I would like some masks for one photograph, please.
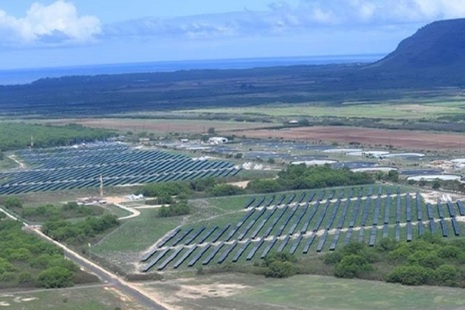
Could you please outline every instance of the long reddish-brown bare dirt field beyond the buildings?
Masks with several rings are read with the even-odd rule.
[[[285,140],[326,141],[372,146],[392,145],[411,150],[458,150],[465,147],[465,135],[432,133],[409,130],[387,130],[356,127],[317,126],[281,130],[244,130],[240,135],[248,138],[274,138]]]

